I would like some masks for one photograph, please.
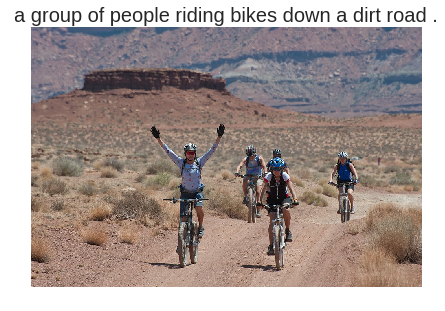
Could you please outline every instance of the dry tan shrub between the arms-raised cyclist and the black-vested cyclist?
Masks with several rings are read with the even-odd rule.
[[[242,198],[234,198],[233,193],[227,189],[208,191],[209,208],[227,215],[230,218],[247,219],[247,208],[241,204]]]

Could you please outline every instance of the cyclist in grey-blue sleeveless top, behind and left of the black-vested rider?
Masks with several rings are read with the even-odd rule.
[[[246,175],[257,175],[260,176],[263,174],[263,172],[266,172],[266,164],[262,156],[256,154],[256,149],[253,145],[249,145],[246,148],[246,157],[243,158],[236,168],[235,175],[238,176],[239,172],[241,171],[241,168],[243,166],[246,166]],[[247,204],[247,182],[249,181],[249,177],[245,176],[243,179],[243,192],[244,192],[244,199],[243,204]],[[256,201],[259,202],[260,197],[260,190],[261,185],[263,184],[263,181],[261,178],[254,178],[254,183],[256,185]],[[257,216],[261,216],[261,214],[258,212]]]

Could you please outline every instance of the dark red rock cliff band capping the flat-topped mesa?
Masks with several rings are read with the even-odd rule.
[[[225,91],[226,81],[222,78],[214,79],[208,73],[182,69],[98,70],[85,76],[83,90],[162,90],[164,86],[183,90],[208,88]]]

